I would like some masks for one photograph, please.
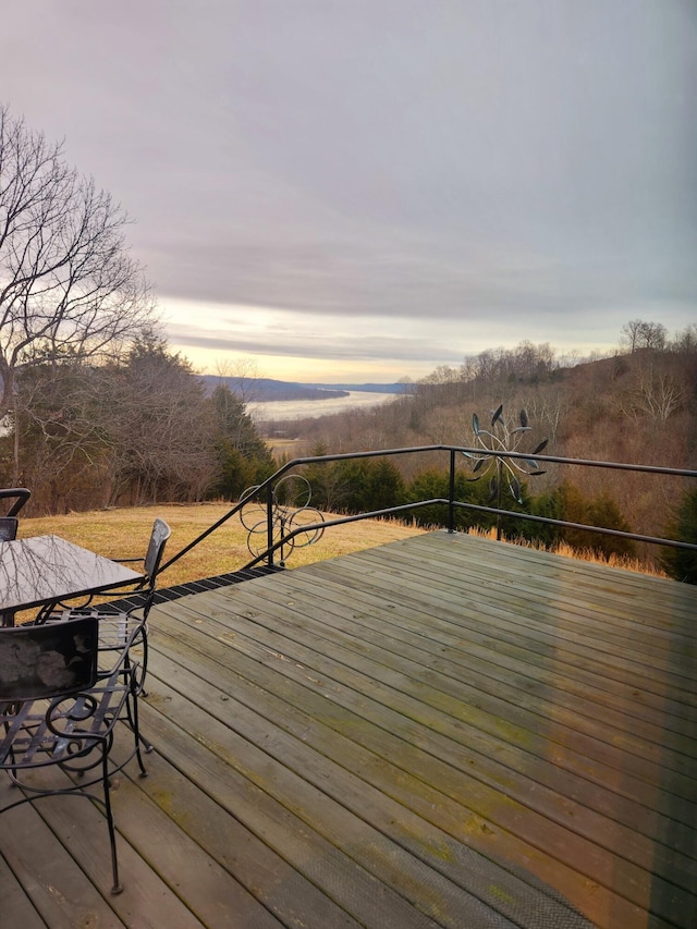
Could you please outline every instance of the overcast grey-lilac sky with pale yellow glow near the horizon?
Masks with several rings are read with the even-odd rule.
[[[694,0],[22,0],[0,102],[201,371],[418,379],[697,322]]]

